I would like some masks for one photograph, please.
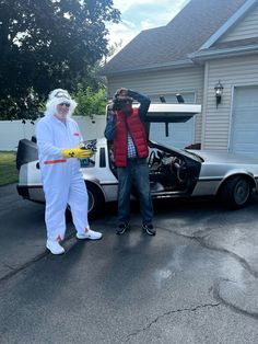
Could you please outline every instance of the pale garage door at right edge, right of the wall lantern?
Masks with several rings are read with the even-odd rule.
[[[235,88],[230,151],[258,158],[258,87]]]

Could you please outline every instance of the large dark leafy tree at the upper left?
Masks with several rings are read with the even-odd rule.
[[[0,0],[0,118],[35,118],[50,90],[91,82],[119,19],[113,0]]]

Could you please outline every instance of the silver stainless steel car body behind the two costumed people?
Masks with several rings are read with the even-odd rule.
[[[159,153],[160,157],[155,158],[154,163],[149,161],[151,192],[155,198],[215,196],[224,188],[227,181],[236,176],[244,179],[250,191],[258,190],[258,159],[221,151],[180,150],[156,142],[151,142],[150,147],[150,151],[154,154]],[[177,170],[173,170],[175,160],[179,161]],[[105,138],[96,140],[94,160],[87,160],[81,171],[89,188],[90,203],[95,205],[94,211],[103,203],[117,200],[118,180],[112,149]],[[45,200],[38,161],[21,167],[17,187],[25,198],[35,202]],[[244,187],[246,188],[246,185]],[[24,188],[26,193],[21,192]],[[243,193],[242,190],[241,192]],[[248,200],[250,192],[247,192],[245,196],[244,191],[243,204],[241,200],[235,205],[236,207],[244,206]],[[234,194],[228,195],[228,199],[233,196]],[[225,194],[224,198],[226,197]]]

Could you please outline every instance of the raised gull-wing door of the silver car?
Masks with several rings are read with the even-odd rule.
[[[168,123],[184,123],[199,113],[201,113],[201,105],[199,104],[151,103],[145,121],[148,123],[164,123],[166,136],[168,136]]]

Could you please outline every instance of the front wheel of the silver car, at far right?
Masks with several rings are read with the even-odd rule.
[[[244,176],[234,176],[222,185],[220,196],[227,208],[243,208],[251,196],[250,183]]]

